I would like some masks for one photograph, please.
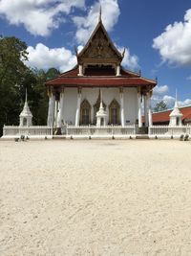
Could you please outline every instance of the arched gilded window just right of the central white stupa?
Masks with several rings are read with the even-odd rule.
[[[117,100],[113,100],[109,105],[109,124],[110,125],[120,125],[120,105]]]

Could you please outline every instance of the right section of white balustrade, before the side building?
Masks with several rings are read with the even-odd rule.
[[[180,126],[180,127],[170,127],[170,126],[152,126],[149,127],[149,135],[181,135],[189,134],[191,135],[191,126]]]

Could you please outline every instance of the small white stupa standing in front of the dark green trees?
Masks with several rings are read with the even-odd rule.
[[[25,96],[25,105],[23,106],[23,110],[19,115],[20,123],[19,127],[31,127],[32,126],[32,112],[27,102],[27,89]]]

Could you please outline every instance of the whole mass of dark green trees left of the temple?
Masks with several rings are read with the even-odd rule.
[[[16,37],[0,37],[0,136],[4,124],[18,125],[26,88],[33,125],[47,123],[48,97],[45,81],[60,73],[54,68],[47,72],[32,70],[25,64],[27,59],[25,42]]]

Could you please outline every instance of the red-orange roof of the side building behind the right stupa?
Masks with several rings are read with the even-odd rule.
[[[191,120],[191,105],[179,107],[180,112],[183,114],[181,120]],[[165,110],[157,113],[153,113],[153,124],[155,123],[163,123],[170,121],[170,113],[173,109]]]

